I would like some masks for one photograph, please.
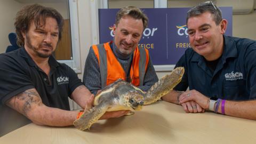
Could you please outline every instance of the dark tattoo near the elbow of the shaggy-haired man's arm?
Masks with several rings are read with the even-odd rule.
[[[8,102],[7,105],[27,116],[33,105],[42,105],[42,99],[35,89],[30,89],[15,95],[14,102]]]

